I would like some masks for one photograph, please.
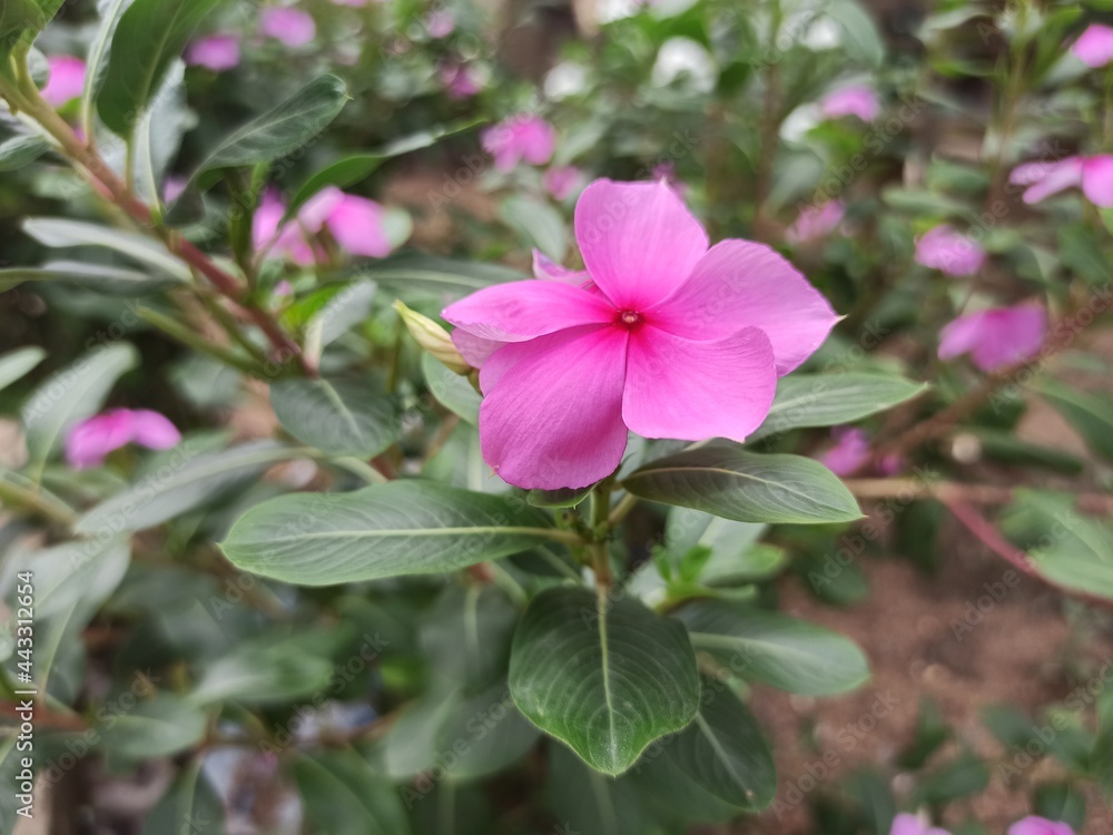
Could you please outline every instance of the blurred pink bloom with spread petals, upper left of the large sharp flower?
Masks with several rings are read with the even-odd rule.
[[[279,226],[285,214],[286,204],[282,198],[274,191],[266,191],[252,224],[256,252],[270,252],[307,266],[322,255],[312,238],[326,228],[341,248],[352,255],[382,258],[393,248],[386,234],[383,207],[335,187],[318,191],[293,219]]]

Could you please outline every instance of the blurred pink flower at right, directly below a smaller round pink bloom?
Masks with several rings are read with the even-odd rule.
[[[1047,314],[1034,305],[968,313],[939,333],[939,358],[969,354],[982,371],[997,371],[1035,356],[1046,333]]]

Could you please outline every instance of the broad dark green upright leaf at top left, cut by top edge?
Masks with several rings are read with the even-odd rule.
[[[108,70],[97,97],[105,125],[128,137],[158,90],[170,62],[223,0],[135,0],[112,37]]]

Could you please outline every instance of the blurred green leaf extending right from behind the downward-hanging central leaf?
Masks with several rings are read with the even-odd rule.
[[[725,600],[699,600],[678,616],[697,650],[746,679],[827,696],[869,677],[866,657],[854,641],[806,620]]]

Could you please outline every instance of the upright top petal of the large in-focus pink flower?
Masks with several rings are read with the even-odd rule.
[[[663,301],[707,252],[707,233],[661,183],[599,179],[575,204],[575,239],[592,281],[620,310]]]

